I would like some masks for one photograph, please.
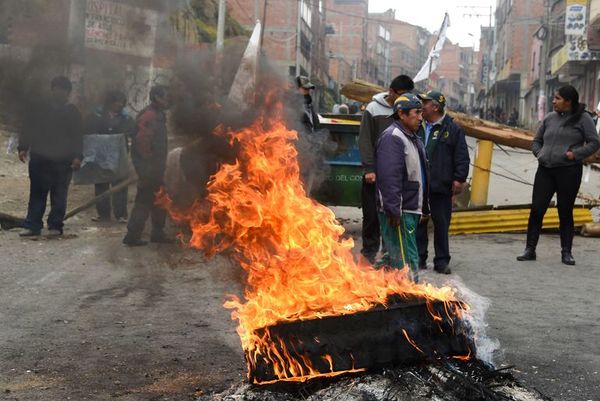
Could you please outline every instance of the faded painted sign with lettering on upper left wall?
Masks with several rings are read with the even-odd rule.
[[[138,57],[154,55],[158,13],[109,0],[88,0],[85,46]]]

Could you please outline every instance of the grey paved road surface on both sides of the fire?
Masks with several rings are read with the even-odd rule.
[[[532,180],[528,155],[496,150],[494,161]],[[2,162],[3,172],[24,171]],[[599,176],[585,192],[600,195]],[[24,175],[0,184],[5,211],[24,210]],[[526,203],[530,191],[493,176],[490,201]],[[360,211],[335,211],[360,249]],[[177,247],[124,248],[122,226],[90,227],[91,216],[70,220],[62,240],[0,231],[0,399],[191,400],[242,381],[235,323],[222,307],[225,294],[241,292],[239,269]],[[450,279],[489,300],[497,363],[555,400],[600,401],[600,239],[576,237],[575,267],[560,263],[556,235],[542,237],[529,263],[514,261],[522,234],[451,241]]]

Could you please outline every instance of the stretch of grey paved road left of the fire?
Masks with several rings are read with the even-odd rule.
[[[122,226],[69,228],[0,231],[0,399],[185,400],[242,380],[228,263],[125,248]]]

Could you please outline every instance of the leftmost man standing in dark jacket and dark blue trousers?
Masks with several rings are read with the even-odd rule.
[[[81,114],[68,102],[71,81],[56,77],[50,89],[50,100],[33,108],[19,137],[19,160],[25,163],[29,158],[30,181],[26,230],[20,234],[22,237],[40,235],[48,193],[48,234],[62,235],[71,176],[81,165]]]

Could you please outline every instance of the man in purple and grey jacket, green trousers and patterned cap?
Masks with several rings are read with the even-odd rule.
[[[427,205],[427,157],[417,132],[423,120],[422,103],[412,93],[397,97],[394,122],[378,140],[375,150],[377,205],[386,245],[384,265],[409,266],[418,281],[416,230]]]

